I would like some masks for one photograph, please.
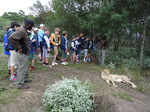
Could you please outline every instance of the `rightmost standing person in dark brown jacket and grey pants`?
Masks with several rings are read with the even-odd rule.
[[[108,41],[106,39],[106,36],[102,36],[97,43],[98,49],[99,49],[99,64],[104,65],[105,63],[105,53],[106,49],[108,48]]]

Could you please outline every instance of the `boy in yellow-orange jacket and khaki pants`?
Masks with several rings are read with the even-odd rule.
[[[59,28],[55,28],[55,33],[51,34],[50,37],[50,43],[53,44],[54,46],[54,57],[53,57],[53,61],[52,61],[52,66],[58,65],[58,63],[56,63],[56,57],[58,56],[58,46],[60,44],[60,29]]]

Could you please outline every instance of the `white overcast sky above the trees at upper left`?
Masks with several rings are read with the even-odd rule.
[[[0,2],[0,16],[4,12],[19,12],[23,10],[26,14],[30,14],[29,7],[37,0],[1,0]],[[46,4],[48,0],[40,0],[42,4]]]

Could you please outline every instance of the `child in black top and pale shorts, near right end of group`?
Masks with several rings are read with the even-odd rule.
[[[84,40],[84,59],[83,62],[87,62],[88,59],[88,49],[89,49],[89,38]]]

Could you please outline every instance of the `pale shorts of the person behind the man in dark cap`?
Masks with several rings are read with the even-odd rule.
[[[17,52],[15,50],[10,50],[10,66],[16,66],[17,63]]]

